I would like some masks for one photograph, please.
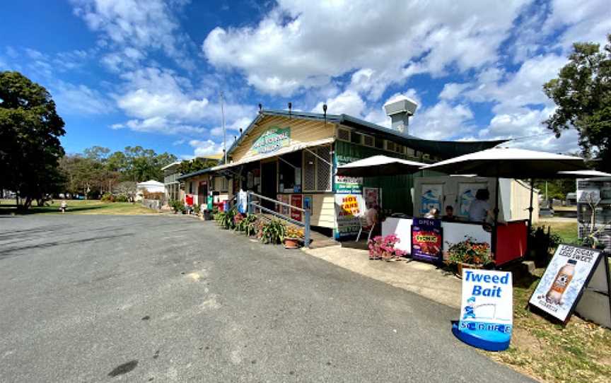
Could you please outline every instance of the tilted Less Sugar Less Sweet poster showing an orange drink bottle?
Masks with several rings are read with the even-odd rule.
[[[528,303],[566,323],[598,265],[601,252],[560,244]]]

